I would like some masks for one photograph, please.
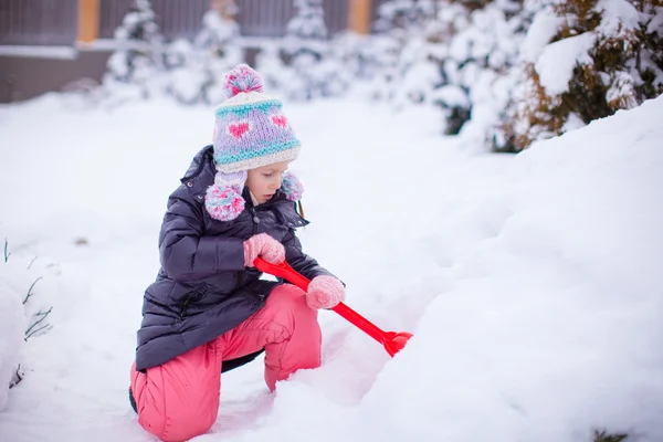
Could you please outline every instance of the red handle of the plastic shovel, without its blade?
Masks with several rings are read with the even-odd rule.
[[[253,262],[255,269],[261,272],[269,273],[274,276],[283,277],[290,281],[292,284],[302,288],[304,292],[308,290],[308,284],[311,281],[297,273],[293,267],[291,267],[286,262],[282,262],[281,264],[271,264],[263,260],[262,257],[256,257]],[[366,333],[368,336],[377,340],[378,343],[386,345],[388,337],[387,334],[380,329],[377,325],[372,324],[370,320],[345,305],[344,303],[338,303],[335,307],[332,308],[334,312],[343,316],[350,324],[358,327],[360,330]]]

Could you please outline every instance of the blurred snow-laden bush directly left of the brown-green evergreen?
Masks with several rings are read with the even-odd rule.
[[[466,15],[454,13],[453,7],[456,11],[462,7]],[[504,118],[523,76],[520,48],[538,9],[537,0],[495,0],[454,2],[440,11],[439,20],[453,30],[443,66],[445,84],[464,91],[469,106],[451,108],[465,110],[460,115],[448,110],[445,131],[454,134],[457,128],[466,148],[503,148]]]

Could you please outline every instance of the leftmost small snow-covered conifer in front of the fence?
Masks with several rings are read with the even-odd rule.
[[[149,0],[136,0],[114,34],[116,50],[103,78],[110,103],[145,99],[164,84],[164,36]]]

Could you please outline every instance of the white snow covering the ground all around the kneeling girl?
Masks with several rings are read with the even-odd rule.
[[[275,394],[260,360],[224,375],[197,440],[663,440],[663,98],[517,157],[460,151],[435,113],[285,110],[304,141],[305,250],[348,305],[414,337],[390,359],[323,313],[323,367]],[[154,440],[127,400],[135,332],[167,196],[211,131],[210,109],[165,103],[0,108],[0,333],[36,276],[20,263],[38,256],[31,302],[53,306],[0,441]]]

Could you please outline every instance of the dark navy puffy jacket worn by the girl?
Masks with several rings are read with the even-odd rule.
[[[253,207],[244,188],[245,210],[232,221],[218,221],[204,208],[214,181],[212,146],[191,162],[182,185],[170,194],[159,233],[161,269],[146,290],[138,330],[136,369],[161,365],[206,344],[264,306],[277,282],[244,267],[243,241],[267,233],[285,246],[287,263],[309,280],[325,269],[302,252],[295,229],[306,225],[295,203],[278,191]]]

